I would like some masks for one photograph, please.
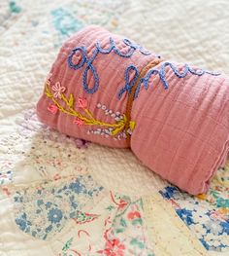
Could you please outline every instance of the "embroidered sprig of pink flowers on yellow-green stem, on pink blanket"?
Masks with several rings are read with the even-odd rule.
[[[54,91],[54,93],[51,90]],[[81,108],[87,116],[82,115],[81,113],[79,113],[74,109],[75,98],[73,94],[71,93],[69,98],[67,98],[63,93],[66,89],[64,87],[61,87],[59,82],[55,83],[55,85],[51,87],[51,90],[50,90],[50,82],[48,79],[48,82],[46,83],[45,93],[53,102],[53,104],[50,104],[48,107],[48,110],[52,114],[56,114],[56,112],[59,110],[67,115],[74,116],[75,119],[73,123],[77,124],[78,126],[86,125],[86,126],[101,126],[101,127],[107,127],[107,128],[114,128],[111,132],[112,135],[116,135],[118,132],[122,131],[126,127],[126,124],[128,121],[125,114],[123,114],[122,118],[119,121],[116,121],[115,124],[104,123],[102,121],[94,119],[93,115],[87,109],[87,100],[85,98],[79,97],[77,106]],[[63,106],[57,100],[57,98],[59,100],[62,100],[67,106],[67,108]],[[133,130],[135,128],[135,122],[130,121],[129,128]]]

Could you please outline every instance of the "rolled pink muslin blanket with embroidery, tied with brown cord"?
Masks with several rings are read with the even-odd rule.
[[[98,26],[63,44],[37,114],[62,133],[130,147],[193,195],[207,192],[229,150],[228,76],[163,60]]]

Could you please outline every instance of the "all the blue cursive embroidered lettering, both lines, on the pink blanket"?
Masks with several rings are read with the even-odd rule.
[[[102,55],[109,55],[111,52],[114,52],[116,55],[119,55],[121,57],[130,57],[134,54],[134,52],[136,50],[139,50],[139,52],[143,55],[151,55],[143,47],[131,42],[129,39],[126,39],[126,38],[123,39],[123,43],[129,47],[126,54],[122,54],[116,48],[115,41],[112,37],[110,37],[110,47],[108,49],[101,48],[101,45],[97,42],[95,44],[95,50],[90,58],[88,58],[88,56],[86,55],[86,49],[83,46],[72,50],[71,54],[68,56],[68,65],[70,68],[78,70],[78,69],[82,68],[82,66],[86,63],[86,67],[82,74],[82,86],[83,86],[84,91],[86,91],[87,93],[93,94],[99,88],[99,76],[98,76],[98,73],[97,73],[95,67],[93,66],[93,61],[99,53]],[[80,60],[80,63],[74,64],[73,56],[77,52],[80,52],[82,59]],[[157,55],[157,57],[160,58],[160,55]],[[166,80],[166,67],[167,66],[170,67],[172,69],[172,71],[174,72],[174,74],[179,78],[184,78],[188,73],[190,73],[192,75],[196,75],[196,76],[202,76],[204,74],[211,74],[213,76],[220,75],[219,73],[213,73],[213,72],[203,70],[203,69],[194,70],[188,64],[184,64],[183,70],[179,71],[178,68],[173,63],[166,61],[161,65],[160,69],[151,68],[147,71],[146,76],[140,79],[139,84],[138,84],[135,94],[134,94],[134,99],[136,99],[138,97],[142,84],[144,85],[144,88],[146,90],[148,89],[148,80],[151,77],[151,75],[153,75],[153,74],[159,76],[164,89],[167,90],[169,88],[169,85]],[[91,89],[89,89],[88,84],[87,84],[88,71],[91,71],[92,76],[94,78],[94,85]],[[133,71],[135,72],[135,74],[134,74],[134,77],[130,81],[130,73]],[[138,68],[133,64],[129,65],[126,68],[125,74],[124,74],[125,85],[117,93],[117,97],[119,99],[121,98],[122,94],[125,91],[127,91],[127,94],[130,94],[133,86],[135,85],[137,79],[139,78],[139,74],[140,74],[140,72],[139,72]]]

